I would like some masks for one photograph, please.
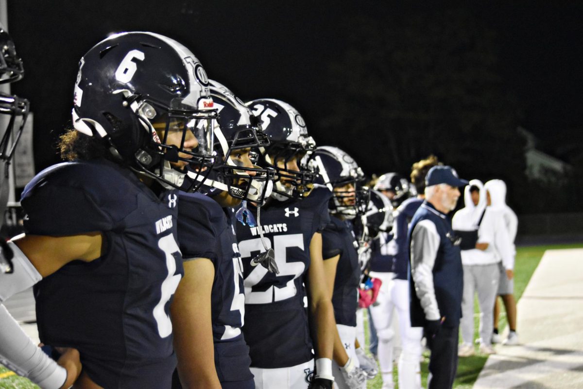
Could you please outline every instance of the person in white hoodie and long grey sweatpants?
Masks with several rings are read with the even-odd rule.
[[[462,345],[458,355],[470,356],[473,348],[473,302],[477,292],[480,305],[480,353],[494,353],[491,347],[493,334],[494,301],[498,292],[500,267],[498,262],[512,260],[512,250],[502,215],[486,208],[486,191],[479,180],[471,180],[464,193],[465,208],[455,213],[452,227],[458,231],[477,230],[474,248],[462,250],[463,297],[462,297]]]

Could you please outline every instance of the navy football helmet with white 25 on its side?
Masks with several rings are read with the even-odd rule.
[[[280,100],[257,99],[249,101],[247,106],[261,120],[271,143],[262,150],[259,164],[275,169],[278,176],[272,197],[279,201],[306,197],[317,169],[309,159],[316,143],[308,135],[304,119],[296,108]],[[295,162],[298,170],[289,169],[290,162]]]

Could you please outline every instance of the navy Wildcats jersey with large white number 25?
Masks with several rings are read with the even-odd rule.
[[[304,276],[310,267],[310,242],[329,223],[331,192],[316,187],[303,200],[271,201],[261,207],[265,244],[275,251],[279,274],[250,260],[265,251],[259,227],[236,223],[245,278],[245,325],[251,366],[290,367],[313,358],[304,308]],[[257,220],[257,208],[250,205]]]

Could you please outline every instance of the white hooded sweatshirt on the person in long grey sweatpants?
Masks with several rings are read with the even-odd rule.
[[[470,187],[476,186],[480,191],[480,199],[477,206],[473,204]],[[512,255],[512,248],[508,233],[504,226],[503,216],[500,211],[486,208],[486,190],[480,180],[471,180],[466,185],[463,195],[465,200],[465,208],[460,209],[455,213],[452,219],[452,227],[454,230],[469,231],[477,228],[477,223],[484,213],[482,223],[478,229],[477,243],[487,243],[486,250],[479,250],[473,248],[472,250],[462,250],[462,264],[463,265],[490,265],[503,261],[504,267],[510,269],[514,265],[514,257]]]

